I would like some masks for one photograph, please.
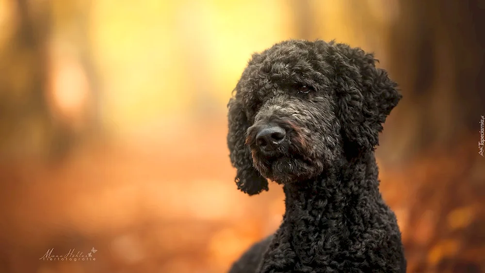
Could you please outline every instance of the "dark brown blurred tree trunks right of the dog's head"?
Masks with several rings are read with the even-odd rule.
[[[470,134],[478,143],[485,114],[484,9],[479,0],[400,1],[389,70],[404,98],[386,130],[396,157],[447,149]]]

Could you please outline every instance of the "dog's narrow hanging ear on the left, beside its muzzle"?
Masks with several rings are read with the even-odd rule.
[[[245,145],[246,130],[249,123],[241,102],[233,97],[227,105],[229,109],[229,132],[227,146],[229,147],[232,166],[237,169],[236,184],[238,189],[249,195],[258,194],[268,190],[268,180],[253,166],[250,148]]]

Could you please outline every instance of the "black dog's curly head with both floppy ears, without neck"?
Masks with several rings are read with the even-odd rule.
[[[228,104],[238,187],[260,193],[267,179],[309,179],[374,149],[401,98],[374,62],[360,48],[323,41],[290,40],[253,54]]]

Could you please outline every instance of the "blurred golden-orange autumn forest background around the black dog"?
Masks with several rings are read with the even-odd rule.
[[[377,149],[408,272],[485,272],[485,3],[0,0],[0,272],[223,273],[284,212],[236,189],[226,104],[289,38],[400,84]],[[70,249],[96,261],[45,261]],[[97,250],[94,252],[94,250]]]

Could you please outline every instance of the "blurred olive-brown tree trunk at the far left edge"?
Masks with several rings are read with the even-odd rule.
[[[46,155],[62,135],[45,97],[50,15],[47,8],[33,11],[28,1],[16,0],[15,18],[16,32],[0,56],[0,150],[8,157]]]

